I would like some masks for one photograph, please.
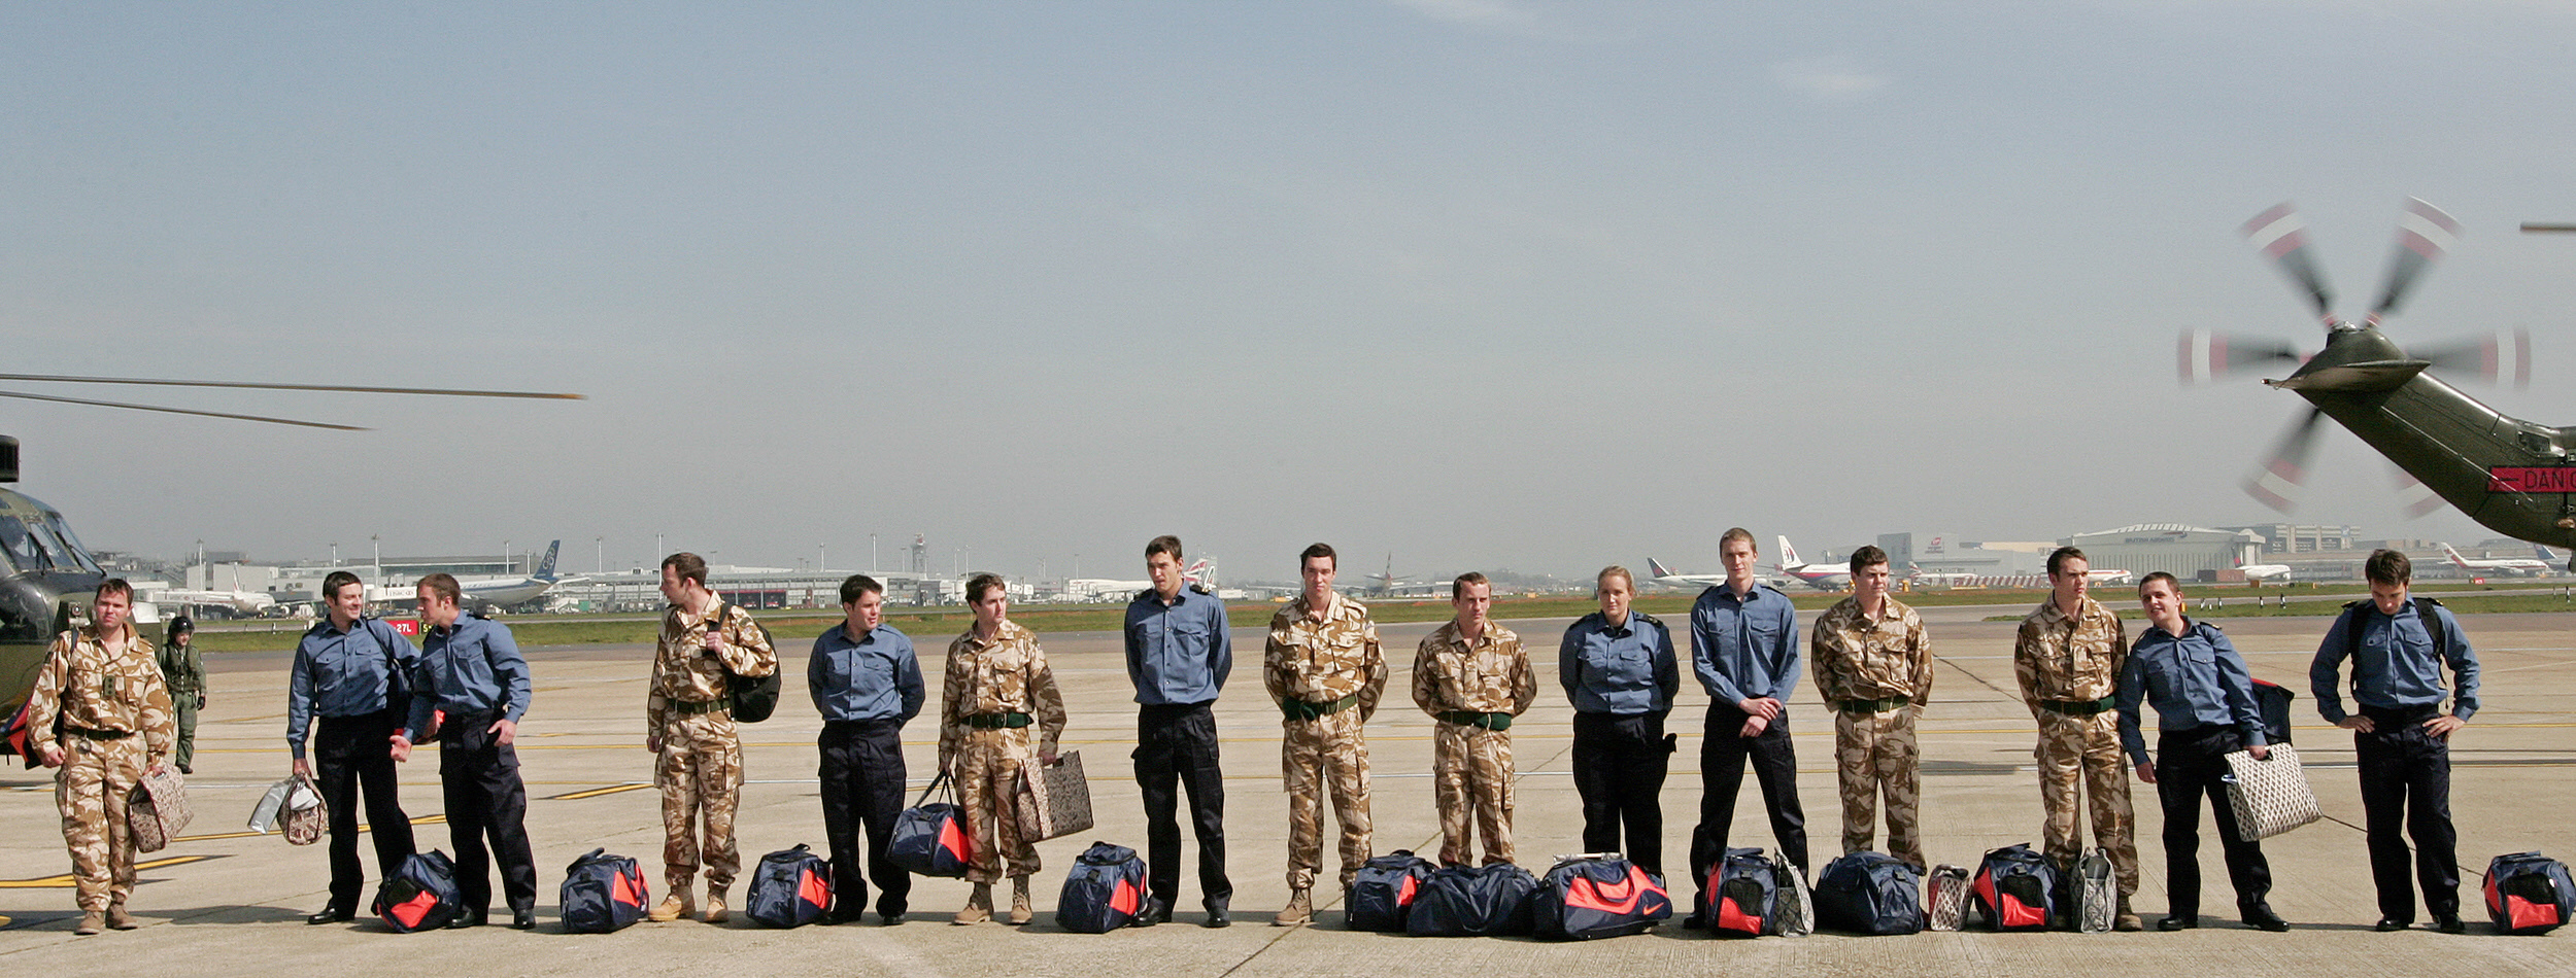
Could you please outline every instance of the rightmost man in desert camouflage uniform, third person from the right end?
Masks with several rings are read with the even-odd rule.
[[[2115,929],[2146,929],[2128,909],[2138,893],[2136,816],[2128,806],[2128,759],[2120,757],[2120,667],[2128,664],[2128,628],[2120,615],[2087,597],[2092,561],[2061,546],[2048,553],[2048,602],[2022,618],[2012,641],[2012,674],[2040,721],[2040,806],[2048,811],[2043,844],[2058,872],[2074,872],[2084,834],[2076,793],[2092,800],[2094,842],[2110,852],[2120,878]]]

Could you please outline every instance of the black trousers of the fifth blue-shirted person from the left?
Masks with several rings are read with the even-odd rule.
[[[1664,713],[1574,713],[1574,793],[1584,800],[1584,852],[1625,852],[1664,875]],[[1620,829],[1628,844],[1620,847]]]

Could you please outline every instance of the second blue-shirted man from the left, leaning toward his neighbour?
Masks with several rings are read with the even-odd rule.
[[[528,782],[518,775],[518,721],[533,687],[510,628],[466,618],[456,577],[430,574],[420,597],[420,679],[412,718],[394,733],[394,759],[438,741],[438,782],[456,847],[464,914],[448,927],[482,927],[492,914],[492,862],[510,901],[510,927],[536,927],[536,857],[528,849]],[[489,836],[489,847],[484,839]]]

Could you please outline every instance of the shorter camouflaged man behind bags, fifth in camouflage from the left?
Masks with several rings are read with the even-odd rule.
[[[1492,620],[1494,584],[1468,571],[1450,582],[1445,625],[1414,649],[1414,705],[1432,726],[1432,800],[1440,806],[1440,862],[1468,865],[1484,836],[1484,862],[1512,862],[1512,718],[1538,700],[1538,674],[1520,636]]]

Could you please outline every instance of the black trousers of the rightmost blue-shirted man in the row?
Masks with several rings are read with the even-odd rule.
[[[2362,767],[2362,821],[2370,839],[2370,880],[2380,890],[2380,916],[2414,921],[2414,885],[2406,880],[2406,839],[2414,836],[2414,878],[2424,909],[2460,914],[2460,834],[2450,826],[2450,741],[2424,733],[2424,710],[2362,708],[2375,731],[2352,731]]]

